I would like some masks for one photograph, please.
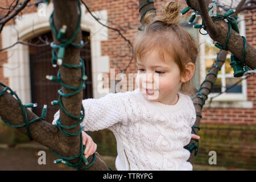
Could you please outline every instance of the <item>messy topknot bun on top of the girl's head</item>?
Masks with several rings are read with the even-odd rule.
[[[162,9],[163,15],[158,19],[166,24],[178,24],[180,21],[180,4],[179,0],[168,1]]]

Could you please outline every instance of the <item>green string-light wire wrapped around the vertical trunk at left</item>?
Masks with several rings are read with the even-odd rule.
[[[56,64],[57,64],[57,65],[62,65],[64,67],[67,67],[67,68],[70,68],[70,69],[81,69],[81,72],[82,72],[81,85],[80,86],[70,86],[70,85],[65,84],[61,80],[60,70],[57,73],[57,77],[55,77],[55,76],[47,76],[47,78],[48,78],[48,80],[59,82],[64,88],[74,90],[73,92],[66,94],[66,93],[63,93],[62,89],[59,89],[58,90],[59,100],[58,101],[52,101],[52,104],[53,105],[59,105],[60,109],[63,110],[63,112],[66,115],[68,115],[68,117],[71,117],[73,119],[79,120],[75,125],[66,126],[66,125],[63,125],[60,122],[60,118],[58,118],[57,121],[56,121],[56,126],[59,127],[61,133],[63,133],[64,135],[66,135],[68,137],[80,135],[80,148],[81,148],[80,154],[78,154],[76,156],[69,156],[69,157],[59,155],[59,154],[57,154],[57,152],[51,150],[51,148],[50,148],[50,150],[55,155],[57,155],[57,156],[59,156],[61,158],[61,159],[55,160],[55,163],[63,163],[65,165],[69,166],[69,167],[75,168],[77,170],[81,170],[81,169],[85,169],[85,168],[88,168],[88,167],[92,166],[92,164],[96,160],[96,154],[95,153],[93,154],[93,160],[89,164],[88,163],[88,159],[90,157],[88,159],[85,158],[84,151],[85,151],[86,146],[82,144],[82,133],[81,132],[82,132],[83,127],[80,127],[80,130],[77,133],[69,133],[68,131],[65,131],[64,129],[73,129],[74,127],[80,125],[80,123],[83,121],[84,116],[85,116],[84,107],[82,106],[82,108],[81,108],[82,109],[82,114],[80,114],[79,116],[76,116],[76,115],[73,115],[71,113],[68,113],[68,111],[65,110],[65,108],[64,108],[64,106],[62,104],[62,101],[61,101],[62,97],[71,97],[71,96],[74,96],[75,94],[81,92],[85,88],[85,80],[87,79],[87,76],[85,75],[84,61],[81,59],[81,57],[80,57],[80,64],[79,65],[71,65],[71,64],[63,63],[63,61],[62,61],[63,58],[64,58],[65,48],[67,46],[69,46],[69,45],[71,45],[73,47],[83,47],[84,46],[84,42],[82,42],[82,41],[81,41],[80,44],[73,43],[73,40],[75,40],[75,38],[76,38],[76,36],[77,36],[77,34],[78,34],[79,30],[80,30],[80,23],[81,23],[80,1],[78,1],[78,5],[79,5],[79,20],[78,20],[78,23],[77,23],[76,30],[72,34],[70,39],[66,40],[66,39],[63,38],[63,35],[65,34],[65,32],[67,30],[67,26],[65,26],[65,25],[59,30],[59,32],[57,34],[57,31],[55,29],[54,22],[53,22],[53,11],[52,11],[52,14],[50,16],[49,22],[50,22],[50,26],[51,26],[51,30],[53,32],[53,35],[61,43],[60,45],[51,43],[51,47],[52,47],[52,65],[53,65],[53,67],[56,67]],[[55,53],[56,49],[59,49],[57,55]],[[67,160],[73,160],[73,159],[76,159],[76,158],[79,158],[79,162],[76,163],[76,164],[72,164],[72,163],[69,163],[67,161]],[[82,163],[85,163],[86,166],[81,167]]]

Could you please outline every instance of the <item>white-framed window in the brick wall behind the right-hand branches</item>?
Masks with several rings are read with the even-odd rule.
[[[245,21],[243,15],[239,15],[241,22],[238,24],[240,28],[240,35],[245,36]],[[201,20],[199,20],[201,22]],[[201,31],[203,34],[206,32]],[[200,83],[205,80],[207,71],[211,68],[213,62],[216,60],[217,53],[220,51],[217,47],[214,46],[213,40],[209,35],[199,36],[200,45]],[[224,65],[222,65],[221,70],[218,72],[218,77],[216,82],[212,87],[212,91],[209,94],[208,98],[213,98],[213,101],[246,101],[247,100],[247,89],[246,89],[246,80],[241,80],[239,77],[236,78],[233,76],[233,68],[230,66],[230,52],[226,56]],[[240,82],[239,82],[240,81]],[[236,86],[228,89],[230,86],[239,82]],[[226,92],[225,90],[228,89]],[[220,96],[217,96],[220,92]],[[217,96],[217,97],[216,97]]]

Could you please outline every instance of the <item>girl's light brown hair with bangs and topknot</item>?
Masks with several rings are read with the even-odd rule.
[[[185,64],[196,63],[197,46],[192,36],[179,23],[180,5],[178,0],[168,1],[162,9],[162,15],[148,11],[144,16],[146,26],[134,40],[134,59],[137,62],[152,49],[158,49],[164,62],[164,53],[172,56],[179,66],[181,75],[185,76]],[[181,85],[180,92],[195,94],[192,79]]]

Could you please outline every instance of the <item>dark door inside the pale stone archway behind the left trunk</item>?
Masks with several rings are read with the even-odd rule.
[[[44,40],[52,42],[51,32],[40,35]],[[84,41],[84,47],[81,48],[81,58],[85,64],[85,75],[88,79],[85,81],[86,88],[84,89],[85,98],[93,98],[93,85],[92,85],[92,59],[90,53],[90,33],[82,31],[82,40]],[[31,39],[31,43],[39,41],[39,36]],[[48,46],[35,47],[29,46],[30,55],[30,84],[31,84],[31,102],[37,103],[37,107],[33,107],[32,111],[40,116],[43,106],[47,105],[46,121],[52,122],[53,115],[59,110],[59,106],[51,105],[51,101],[59,98],[57,90],[61,88],[61,85],[49,81],[46,79],[46,75],[57,76],[59,67],[53,68],[51,64],[52,48]]]

